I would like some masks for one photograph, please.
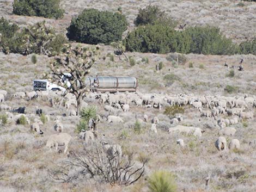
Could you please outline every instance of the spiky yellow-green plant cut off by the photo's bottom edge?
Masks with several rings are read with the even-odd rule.
[[[175,192],[175,177],[168,171],[156,171],[148,179],[150,192]]]

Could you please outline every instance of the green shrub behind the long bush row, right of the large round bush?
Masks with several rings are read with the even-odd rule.
[[[148,5],[144,9],[139,9],[139,13],[134,21],[135,26],[145,26],[147,24],[166,24],[170,27],[175,27],[176,22],[167,17],[164,11],[161,11],[159,7],[154,5]]]

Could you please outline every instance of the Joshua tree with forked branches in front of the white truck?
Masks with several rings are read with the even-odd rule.
[[[50,63],[53,82],[63,85],[63,73],[70,73],[70,87],[66,87],[68,92],[76,96],[77,115],[80,112],[82,104],[82,96],[88,91],[85,84],[86,75],[90,72],[90,68],[99,58],[99,47],[80,47],[75,48],[65,45],[63,53],[58,54]]]

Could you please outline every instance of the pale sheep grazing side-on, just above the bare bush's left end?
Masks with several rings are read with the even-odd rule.
[[[58,151],[59,146],[65,146],[64,153],[68,151],[69,143],[72,137],[68,133],[58,133],[50,135],[46,142],[47,148],[55,147],[56,151]]]

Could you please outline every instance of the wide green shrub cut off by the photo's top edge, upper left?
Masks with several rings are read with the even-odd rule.
[[[59,7],[60,0],[14,0],[13,13],[16,15],[61,18],[64,10]]]

